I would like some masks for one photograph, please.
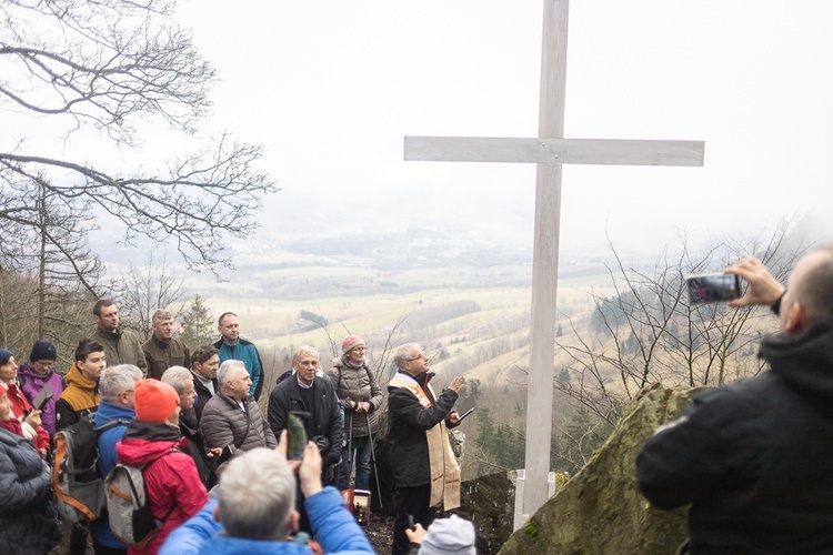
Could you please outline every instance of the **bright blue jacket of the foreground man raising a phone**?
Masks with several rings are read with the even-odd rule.
[[[159,555],[198,555],[205,553],[312,553],[305,545],[293,542],[268,542],[243,539],[222,535],[222,526],[214,521],[217,500],[211,500],[165,541]],[[374,553],[368,537],[344,507],[344,501],[334,487],[324,487],[304,501],[312,529],[324,553],[333,555],[359,555]]]

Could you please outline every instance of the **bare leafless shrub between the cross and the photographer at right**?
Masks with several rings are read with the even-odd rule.
[[[756,345],[774,320],[753,307],[693,304],[683,279],[719,271],[749,253],[783,280],[804,251],[801,242],[784,248],[787,231],[784,222],[752,239],[715,241],[697,255],[689,252],[683,238],[678,255],[663,252],[649,272],[628,268],[611,243],[614,294],[593,294],[591,333],[563,315],[573,334],[556,344],[570,357],[570,380],[555,380],[554,387],[615,424],[626,402],[652,383],[722,385],[760,372]]]

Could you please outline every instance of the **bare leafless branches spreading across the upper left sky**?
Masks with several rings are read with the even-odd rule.
[[[0,3],[0,108],[53,120],[68,144],[103,132],[114,155],[141,144],[140,122],[195,134],[214,72],[174,8],[173,0]],[[172,241],[193,270],[230,264],[225,238],[250,232],[261,198],[277,190],[254,167],[261,149],[228,134],[165,163],[119,170],[107,168],[106,151],[97,164],[52,149],[31,152],[22,134],[0,139],[0,222],[37,221],[31,201],[44,191],[120,220],[128,243],[137,234]]]

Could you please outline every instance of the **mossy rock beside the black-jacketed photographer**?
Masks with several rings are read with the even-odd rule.
[[[501,548],[501,554],[674,553],[685,508],[652,508],[636,488],[636,454],[653,431],[704,389],[655,384],[625,408],[602,448]]]

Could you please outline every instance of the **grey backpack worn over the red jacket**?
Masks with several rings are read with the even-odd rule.
[[[119,463],[104,478],[110,532],[122,543],[137,549],[143,549],[153,539],[177,508],[174,504],[161,521],[153,518],[151,514],[142,472],[157,461],[159,458],[142,466]]]

